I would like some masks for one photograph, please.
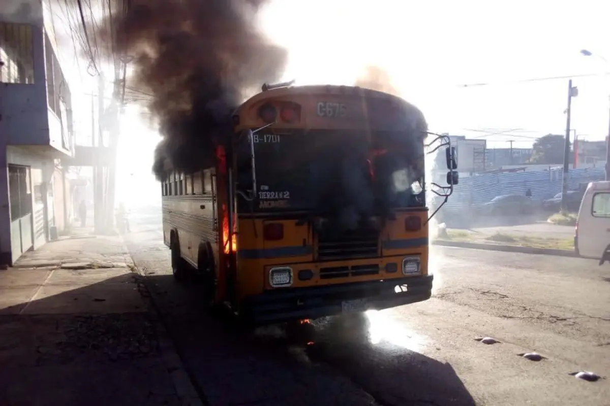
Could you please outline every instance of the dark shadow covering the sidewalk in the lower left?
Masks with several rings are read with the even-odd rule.
[[[101,270],[73,272],[87,271]],[[53,294],[59,285],[0,309],[0,404],[180,404],[132,273]]]

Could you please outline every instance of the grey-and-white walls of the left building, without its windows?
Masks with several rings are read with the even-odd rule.
[[[51,21],[57,10],[51,10],[49,0],[45,0],[44,7],[41,0],[0,0],[0,3],[0,22],[28,24],[23,29],[31,32],[32,60],[28,60],[34,71],[25,81],[5,76],[9,77],[7,82],[22,83],[0,83],[0,264],[10,264],[16,259],[12,253],[16,238],[10,219],[7,165],[30,167],[31,237],[26,237],[34,240],[32,248],[39,248],[48,239],[49,225],[54,224],[61,231],[68,224],[65,212],[70,210],[64,205],[63,174],[56,170],[54,158],[73,156],[74,140],[70,89],[59,66]],[[59,97],[49,97],[51,86],[63,102],[57,101]]]

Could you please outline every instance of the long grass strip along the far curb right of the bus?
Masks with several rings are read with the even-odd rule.
[[[450,240],[473,242],[473,243],[495,243],[498,245],[517,245],[520,247],[552,248],[554,250],[573,250],[573,239],[554,239],[529,236],[515,236],[514,234],[495,233],[491,236],[478,236],[476,233],[468,233],[463,230],[448,230]]]

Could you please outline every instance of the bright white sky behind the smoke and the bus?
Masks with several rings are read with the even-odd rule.
[[[274,0],[258,23],[289,49],[283,79],[349,85],[365,65],[381,66],[432,131],[486,139],[490,148],[511,140],[525,148],[539,136],[565,133],[570,75],[579,89],[572,128],[591,141],[608,133],[608,15],[610,3],[590,0]],[[84,136],[91,97],[85,93],[95,91],[95,80],[84,72],[86,63],[76,63],[70,35],[59,43]],[[581,49],[599,57],[584,57]],[[545,77],[565,78],[525,81]],[[118,153],[125,175],[120,198],[159,199],[151,174],[158,140],[140,108],[128,107]]]

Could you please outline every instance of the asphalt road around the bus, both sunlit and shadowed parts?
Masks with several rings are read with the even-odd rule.
[[[210,405],[608,405],[610,267],[434,247],[434,297],[286,337],[201,312],[171,278],[159,217],[126,236],[192,380]],[[484,345],[475,337],[501,343]],[[517,354],[536,351],[533,362]]]

